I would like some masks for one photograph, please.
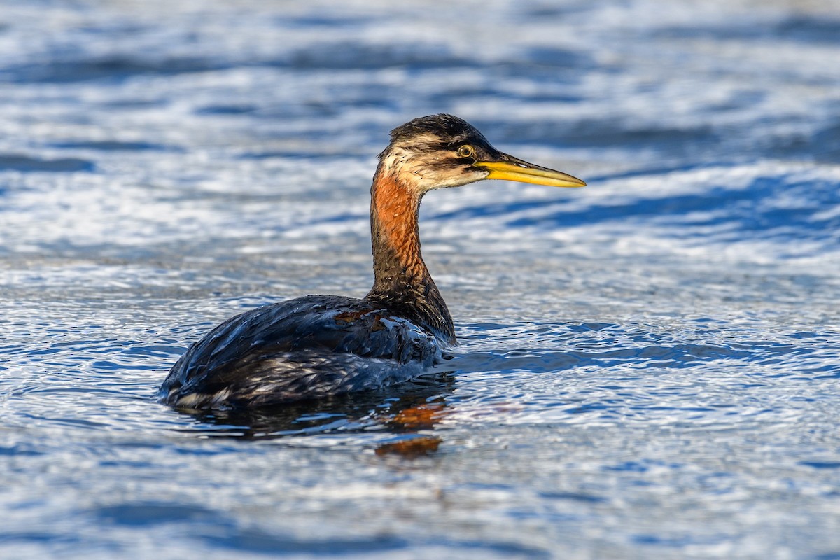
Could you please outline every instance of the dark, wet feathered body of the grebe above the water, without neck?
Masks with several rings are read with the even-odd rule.
[[[392,385],[440,357],[428,331],[381,306],[305,296],[214,328],[181,356],[158,395],[185,408],[269,406]]]

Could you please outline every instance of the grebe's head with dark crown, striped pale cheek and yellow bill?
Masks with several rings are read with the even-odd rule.
[[[482,179],[504,179],[548,186],[585,186],[572,175],[503,154],[470,123],[452,115],[415,118],[391,131],[391,144],[379,154],[380,172],[419,196],[433,189]]]

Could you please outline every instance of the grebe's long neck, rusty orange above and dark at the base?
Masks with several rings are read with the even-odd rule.
[[[374,285],[368,301],[455,342],[452,317],[420,253],[418,214],[423,193],[380,165],[370,187]]]

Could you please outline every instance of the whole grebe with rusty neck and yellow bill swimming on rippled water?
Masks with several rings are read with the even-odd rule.
[[[370,293],[303,296],[228,319],[181,356],[160,400],[187,409],[271,406],[393,385],[438,364],[457,341],[420,254],[420,201],[482,179],[585,186],[502,154],[452,115],[394,128],[370,187]]]

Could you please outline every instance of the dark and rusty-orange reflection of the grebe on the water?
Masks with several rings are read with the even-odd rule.
[[[198,423],[187,432],[203,437],[265,440],[331,433],[390,433],[375,448],[377,456],[418,458],[437,452],[441,439],[420,434],[447,415],[446,395],[454,390],[453,372],[414,379],[385,390],[302,400],[249,410],[190,411]],[[416,435],[414,435],[416,434]]]

